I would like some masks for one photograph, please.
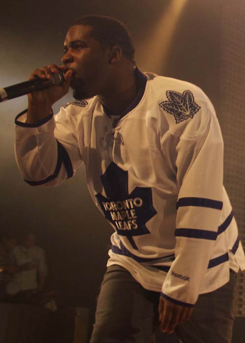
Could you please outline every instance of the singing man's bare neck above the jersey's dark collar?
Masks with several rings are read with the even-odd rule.
[[[135,66],[132,65],[116,73],[111,86],[98,97],[112,115],[121,115],[136,95]]]

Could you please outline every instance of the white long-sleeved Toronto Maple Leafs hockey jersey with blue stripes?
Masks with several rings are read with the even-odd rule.
[[[146,289],[192,307],[198,294],[245,269],[222,185],[215,110],[195,85],[141,73],[115,123],[96,96],[37,124],[16,118],[16,158],[30,185],[56,186],[86,166],[90,194],[114,228],[107,265]]]

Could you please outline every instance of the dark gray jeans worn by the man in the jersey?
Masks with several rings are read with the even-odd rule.
[[[218,290],[198,297],[189,321],[176,327],[182,343],[230,343],[236,274]],[[121,266],[107,268],[90,343],[150,343],[158,326],[159,293],[147,291]],[[164,342],[163,342],[164,343]]]

